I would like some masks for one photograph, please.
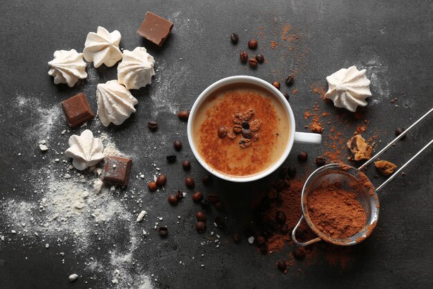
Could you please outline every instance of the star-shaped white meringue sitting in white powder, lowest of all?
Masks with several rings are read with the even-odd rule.
[[[90,130],[84,130],[80,137],[74,134],[69,138],[69,146],[65,152],[66,157],[72,157],[72,165],[77,170],[84,170],[95,166],[104,159],[104,145],[101,139],[93,137]]]

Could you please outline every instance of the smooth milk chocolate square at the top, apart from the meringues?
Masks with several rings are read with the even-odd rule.
[[[172,32],[173,23],[159,17],[158,15],[147,11],[145,21],[142,21],[137,33],[145,37],[150,42],[158,46],[163,46],[170,32]]]

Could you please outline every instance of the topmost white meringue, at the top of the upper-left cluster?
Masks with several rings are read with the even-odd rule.
[[[109,33],[104,27],[98,26],[98,32],[89,32],[84,43],[84,59],[93,62],[94,67],[105,64],[112,67],[122,59],[122,52],[119,49],[120,32],[114,30]]]

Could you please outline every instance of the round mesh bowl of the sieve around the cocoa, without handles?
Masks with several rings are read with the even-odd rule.
[[[357,234],[349,238],[332,238],[320,231],[320,229],[311,222],[307,210],[307,197],[309,193],[313,192],[324,182],[327,182],[328,184],[340,183],[342,189],[356,194],[356,198],[358,202],[360,202],[361,207],[364,209],[365,215],[367,216],[365,226]],[[374,187],[372,185],[365,186],[365,182],[368,182],[371,185],[367,177],[361,175],[358,169],[340,164],[323,166],[308,177],[304,185],[304,190],[302,191],[302,211],[308,226],[311,227],[317,236],[320,236],[320,238],[336,245],[353,245],[369,236],[378,219],[379,202],[376,191],[372,189]]]

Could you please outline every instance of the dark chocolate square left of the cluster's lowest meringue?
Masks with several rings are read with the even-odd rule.
[[[77,94],[62,101],[62,108],[66,121],[68,121],[68,125],[71,128],[75,128],[77,125],[84,123],[84,121],[89,121],[89,119],[95,117],[84,94]]]

